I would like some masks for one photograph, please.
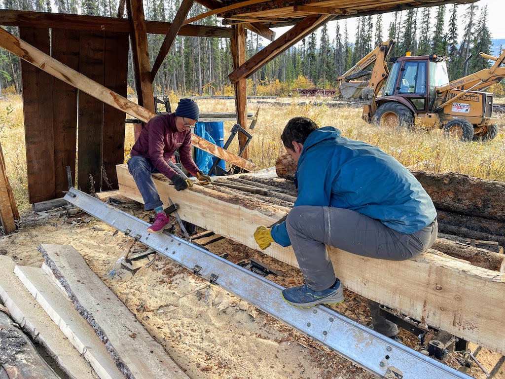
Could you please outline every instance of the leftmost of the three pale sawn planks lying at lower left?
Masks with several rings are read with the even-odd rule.
[[[0,256],[0,298],[11,317],[46,351],[71,379],[94,379],[89,364],[14,274],[16,264]]]

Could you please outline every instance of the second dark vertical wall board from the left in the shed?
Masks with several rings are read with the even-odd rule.
[[[54,59],[77,70],[79,67],[79,31],[53,28],[51,31],[51,55]],[[52,77],[53,119],[55,141],[55,186],[56,197],[68,191],[67,166],[75,182],[75,159],[77,141],[77,89],[60,79]]]

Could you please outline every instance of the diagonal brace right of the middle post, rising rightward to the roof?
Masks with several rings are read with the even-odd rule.
[[[283,51],[325,24],[329,18],[329,15],[307,16],[228,75],[230,81],[235,84],[238,80],[254,74]]]

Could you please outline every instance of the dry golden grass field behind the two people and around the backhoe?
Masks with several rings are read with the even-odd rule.
[[[302,99],[307,101],[306,99]],[[343,107],[329,108],[313,105],[299,106],[300,99],[278,99],[280,102],[293,102],[290,106],[270,104],[248,104],[248,112],[260,109],[259,121],[249,145],[249,158],[258,168],[271,167],[278,156],[284,152],[280,134],[287,121],[295,116],[306,116],[320,126],[335,126],[342,135],[360,139],[376,145],[394,156],[411,169],[437,172],[456,171],[486,179],[505,181],[505,116],[500,116],[498,136],[488,143],[463,143],[448,139],[440,130],[387,130],[369,125],[361,120],[361,109]],[[176,104],[173,103],[173,109]],[[234,112],[232,100],[198,100],[203,112]],[[129,116],[128,116],[129,117]],[[225,139],[233,122],[225,122]],[[129,158],[133,146],[133,126],[127,124],[125,133],[125,160]],[[26,151],[23,130],[22,102],[20,97],[12,97],[0,102],[0,143],[2,144],[7,174],[14,189],[18,208],[21,212],[29,209],[26,178]],[[229,149],[238,151],[235,139]]]

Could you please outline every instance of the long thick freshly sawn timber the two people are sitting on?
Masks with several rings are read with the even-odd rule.
[[[117,167],[122,195],[142,202],[126,165]],[[177,192],[155,178],[162,199],[179,204],[182,219],[258,249],[252,234],[289,210],[273,204],[242,202],[201,186]],[[272,244],[264,251],[297,266],[291,248]],[[364,258],[329,248],[335,274],[351,291],[398,309],[428,325],[505,353],[505,276],[429,252],[402,262]]]

